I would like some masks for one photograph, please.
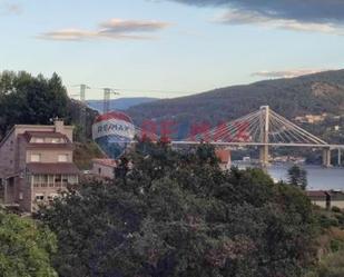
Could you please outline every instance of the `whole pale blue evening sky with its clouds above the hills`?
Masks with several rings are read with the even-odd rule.
[[[341,69],[342,0],[0,0],[0,70],[174,98]]]

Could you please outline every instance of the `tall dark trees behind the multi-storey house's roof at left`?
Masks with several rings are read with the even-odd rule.
[[[69,119],[69,99],[58,75],[0,73],[0,135],[16,123],[47,125],[55,117]]]

